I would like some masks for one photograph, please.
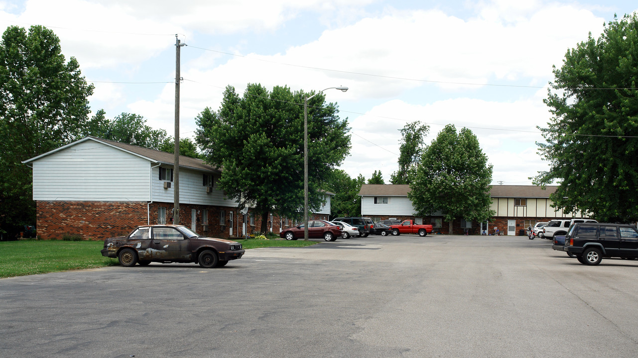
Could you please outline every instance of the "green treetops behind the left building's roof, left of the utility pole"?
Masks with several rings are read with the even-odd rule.
[[[141,115],[122,113],[110,120],[105,117],[105,114],[104,110],[97,111],[89,120],[84,135],[119,141],[138,147],[163,150],[164,152],[174,152],[174,148],[170,151],[164,150],[168,146],[167,141],[171,141],[167,132],[164,129],[152,129]],[[179,143],[181,145],[182,141],[180,140]],[[191,144],[194,143],[191,141]],[[181,148],[179,152],[182,153]]]

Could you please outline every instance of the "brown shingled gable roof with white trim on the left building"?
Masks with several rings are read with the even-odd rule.
[[[49,152],[46,152],[44,154],[40,154],[31,159],[27,159],[26,161],[23,161],[23,163],[37,161],[38,159],[42,157],[46,157],[47,155],[51,155],[61,150],[64,150],[66,148],[73,147],[74,145],[77,145],[79,143],[84,143],[85,141],[96,141],[103,145],[108,145],[108,147],[117,148],[119,150],[123,150],[124,152],[137,155],[138,157],[142,157],[146,159],[147,161],[156,162],[159,164],[168,164],[168,165],[175,164],[175,155],[172,153],[162,152],[161,150],[138,147],[137,145],[124,144],[118,141],[104,140],[102,138],[93,137],[93,136],[87,136],[85,138],[82,138],[81,140],[77,140],[67,145],[63,145],[62,147],[56,148],[54,150],[50,150]],[[204,161],[202,161],[202,159],[186,157],[185,155],[179,156],[179,168],[190,168],[190,169],[196,169],[199,171],[214,171],[217,173],[221,173],[221,171],[218,168],[205,164]]]

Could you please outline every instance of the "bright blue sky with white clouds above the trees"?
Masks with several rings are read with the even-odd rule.
[[[635,1],[0,0],[0,29],[44,25],[95,86],[91,111],[142,115],[174,134],[175,40],[181,47],[180,137],[218,110],[227,85],[286,85],[337,103],[352,149],[340,168],[389,183],[401,132],[447,124],[477,136],[493,184],[531,185],[547,170],[537,127],[565,53]],[[177,35],[177,37],[175,36]]]

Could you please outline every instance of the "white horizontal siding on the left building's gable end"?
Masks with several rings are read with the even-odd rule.
[[[33,199],[149,201],[151,162],[84,141],[33,162]]]

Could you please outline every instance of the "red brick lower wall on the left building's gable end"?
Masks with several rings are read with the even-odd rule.
[[[146,224],[144,201],[37,201],[36,207],[36,229],[44,240],[61,240],[64,234],[104,240]]]

